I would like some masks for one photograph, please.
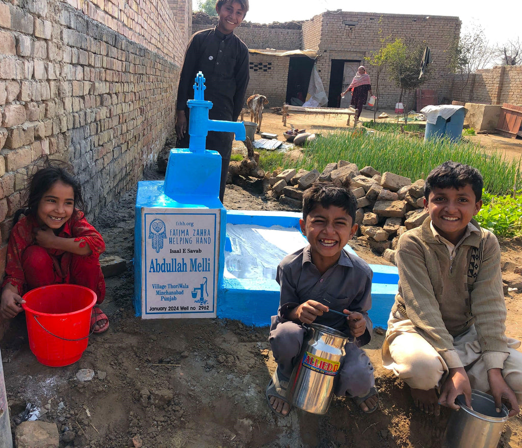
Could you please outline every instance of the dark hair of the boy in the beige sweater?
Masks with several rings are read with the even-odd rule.
[[[477,168],[448,160],[433,168],[424,183],[424,198],[428,201],[430,192],[434,188],[455,188],[471,186],[475,193],[475,202],[482,198],[484,179]]]

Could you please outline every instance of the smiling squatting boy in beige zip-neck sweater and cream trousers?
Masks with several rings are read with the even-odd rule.
[[[505,335],[506,306],[500,247],[473,220],[483,180],[468,165],[445,162],[424,186],[429,213],[401,236],[396,252],[399,289],[388,320],[383,365],[411,388],[426,413],[458,409],[471,388],[490,393],[518,413],[522,400],[519,341]]]

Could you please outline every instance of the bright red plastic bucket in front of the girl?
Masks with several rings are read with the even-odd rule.
[[[85,286],[55,284],[23,295],[29,347],[37,360],[51,367],[73,364],[89,342],[96,293]]]

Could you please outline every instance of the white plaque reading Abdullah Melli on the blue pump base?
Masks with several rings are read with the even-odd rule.
[[[141,213],[141,317],[216,317],[220,210]]]

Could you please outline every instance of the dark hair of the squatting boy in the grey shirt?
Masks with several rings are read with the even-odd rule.
[[[348,185],[347,185],[348,183]],[[335,185],[333,182],[315,182],[303,194],[303,220],[317,206],[322,205],[327,209],[335,205],[345,210],[355,223],[355,211],[357,211],[357,199],[350,189],[349,181],[345,185]]]

